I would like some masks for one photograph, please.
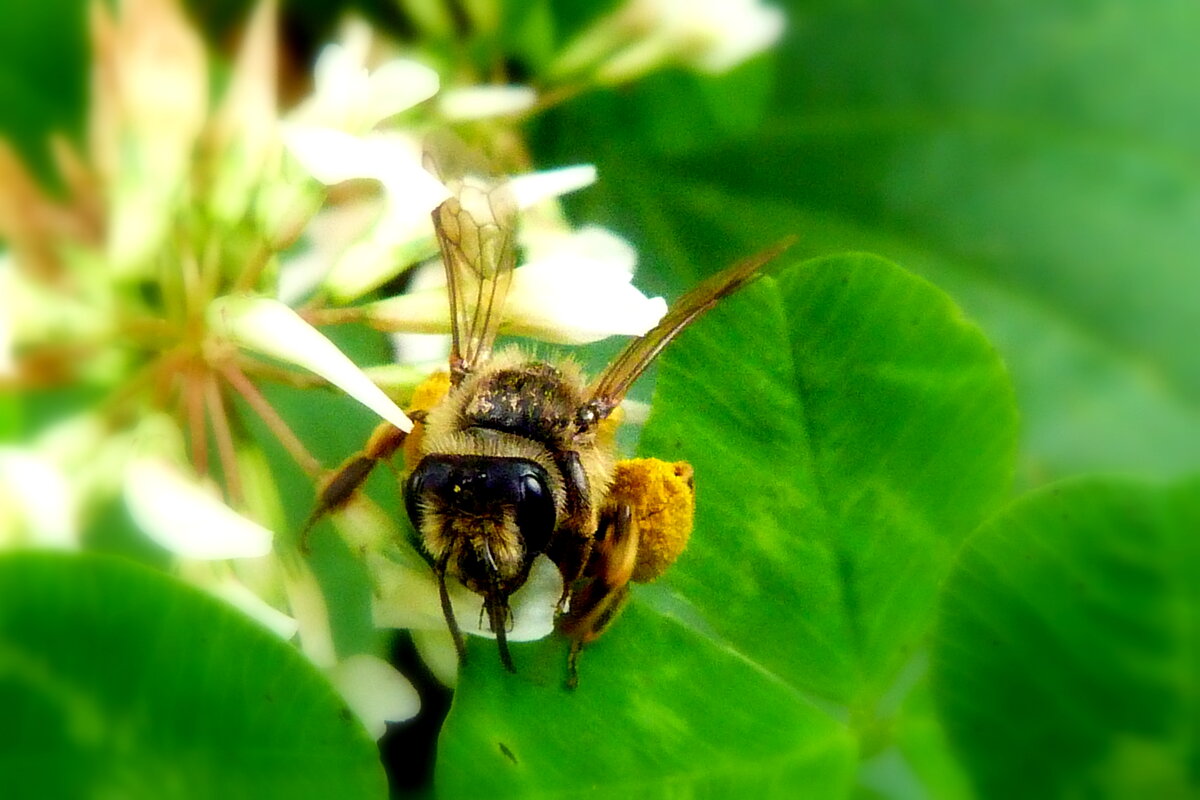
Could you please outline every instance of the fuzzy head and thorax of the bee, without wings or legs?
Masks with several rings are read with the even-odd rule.
[[[558,565],[564,587],[586,566],[614,464],[607,426],[578,421],[586,403],[574,362],[514,348],[450,387],[414,431],[404,494],[420,549],[499,606],[500,621],[538,555]],[[522,515],[541,507],[522,481],[539,483],[550,512]]]

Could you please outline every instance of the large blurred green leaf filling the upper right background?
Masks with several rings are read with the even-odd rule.
[[[1001,349],[1022,481],[1200,469],[1200,6],[782,5],[775,91],[751,131],[708,116],[745,108],[736,86],[701,100],[666,82],[544,122],[548,161],[599,169],[578,217],[666,270],[652,287],[782,233],[804,254],[883,254]],[[686,132],[662,136],[674,122]]]

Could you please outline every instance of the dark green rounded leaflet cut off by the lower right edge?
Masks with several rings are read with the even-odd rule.
[[[946,584],[934,687],[983,796],[1200,793],[1200,482],[1024,498]]]

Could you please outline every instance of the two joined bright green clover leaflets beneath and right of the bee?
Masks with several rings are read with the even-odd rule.
[[[924,281],[848,255],[746,289],[664,355],[642,435],[695,467],[688,552],[584,650],[575,693],[562,642],[517,645],[516,676],[474,648],[439,788],[844,795],[847,736],[1014,449],[998,359]]]

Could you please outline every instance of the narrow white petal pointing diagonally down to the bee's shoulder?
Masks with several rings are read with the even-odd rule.
[[[236,344],[310,369],[401,431],[413,422],[337,345],[278,300],[226,296],[209,306],[209,325]]]

